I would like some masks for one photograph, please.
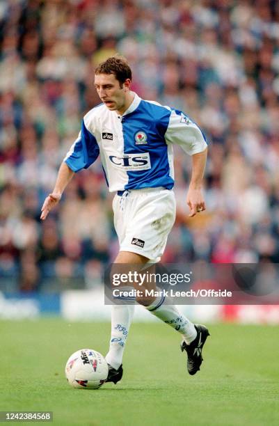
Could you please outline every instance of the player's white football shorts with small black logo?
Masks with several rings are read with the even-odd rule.
[[[124,191],[113,198],[114,226],[120,251],[159,262],[175,223],[175,195],[164,188]]]

